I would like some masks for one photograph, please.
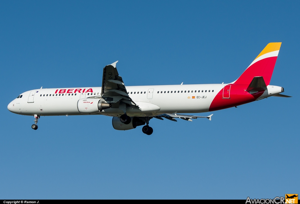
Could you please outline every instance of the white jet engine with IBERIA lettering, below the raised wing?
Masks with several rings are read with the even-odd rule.
[[[110,108],[111,104],[103,102],[100,99],[79,99],[77,102],[77,109],[82,114],[93,114],[101,112],[103,109]]]

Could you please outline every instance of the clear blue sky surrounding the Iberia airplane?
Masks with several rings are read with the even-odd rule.
[[[298,1],[1,1],[1,199],[246,199],[300,193]],[[229,83],[269,42],[271,79],[292,98],[152,119],[114,130],[105,116],[7,110],[36,88]],[[207,116],[211,113],[198,115]]]

